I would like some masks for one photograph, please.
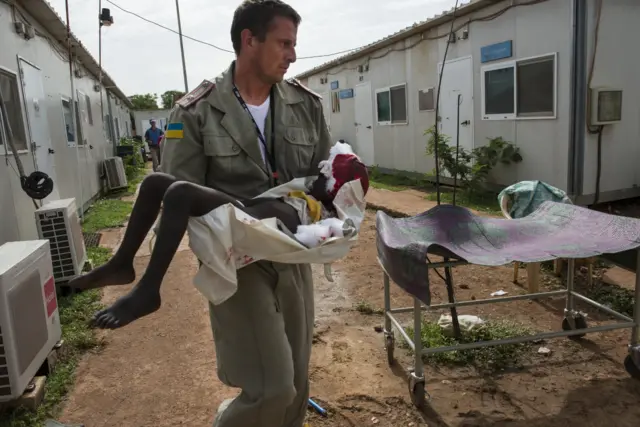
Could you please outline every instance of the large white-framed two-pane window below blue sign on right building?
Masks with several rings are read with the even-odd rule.
[[[541,59],[553,60],[553,114],[540,115],[537,113],[518,114],[518,64],[535,62]],[[487,98],[485,75],[489,71],[513,69],[513,113],[507,114],[487,114]],[[558,52],[545,53],[542,55],[529,56],[526,58],[502,61],[495,64],[485,65],[480,69],[480,91],[482,104],[482,120],[555,120],[558,118]]]

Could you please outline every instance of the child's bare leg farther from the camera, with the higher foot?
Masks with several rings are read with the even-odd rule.
[[[92,289],[133,282],[136,278],[133,258],[158,217],[165,192],[174,182],[174,177],[163,173],[147,176],[140,185],[140,193],[133,205],[122,244],[115,255],[105,265],[71,280],[69,286]]]

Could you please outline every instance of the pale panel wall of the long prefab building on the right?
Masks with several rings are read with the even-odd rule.
[[[474,18],[493,15],[509,6],[503,1],[491,7],[459,18],[458,26]],[[640,172],[636,166],[640,157],[640,57],[637,41],[629,37],[629,29],[640,20],[640,2],[637,0],[607,0],[602,11],[600,38],[595,62],[593,86],[609,86],[622,89],[623,121],[605,130],[603,146],[602,201],[610,198],[640,194]],[[589,1],[590,34],[595,29],[595,1]],[[508,185],[529,179],[546,181],[560,188],[567,185],[568,141],[570,128],[570,78],[571,78],[571,2],[549,0],[537,5],[515,7],[496,19],[472,22],[466,40],[451,44],[447,61],[471,57],[473,75],[473,143],[476,147],[486,144],[487,138],[503,137],[517,144],[524,161],[518,165],[498,168],[494,180]],[[450,24],[433,29],[425,36],[446,36]],[[458,31],[458,36],[461,31]],[[433,126],[433,111],[418,110],[418,91],[438,85],[437,64],[442,61],[446,37],[425,40],[418,44],[419,36],[397,43],[398,51],[386,53],[388,48],[374,52],[367,58],[346,62],[331,70],[312,75],[304,82],[311,89],[330,96],[330,83],[338,81],[340,89],[354,88],[362,82],[371,82],[375,116],[375,91],[396,84],[407,85],[408,122],[397,125],[379,125],[374,117],[375,163],[380,167],[412,172],[431,172],[432,157],[425,155],[424,130]],[[482,63],[483,46],[512,41],[512,56],[502,60]],[[411,47],[413,46],[413,47]],[[410,48],[411,47],[411,48]],[[404,49],[404,50],[403,50]],[[556,117],[511,118],[484,120],[482,115],[483,68],[497,63],[521,60],[540,55],[556,54]],[[593,36],[589,41],[589,56],[593,54]],[[357,66],[368,64],[369,70],[358,72]],[[446,68],[445,68],[446,72]],[[328,77],[327,83],[320,83]],[[362,80],[361,80],[362,79]],[[356,140],[355,100],[340,101],[339,112],[329,112],[332,136]],[[585,194],[593,193],[596,166],[596,141],[589,135],[585,141]],[[635,194],[634,193],[638,193]],[[609,193],[606,197],[604,193]]]

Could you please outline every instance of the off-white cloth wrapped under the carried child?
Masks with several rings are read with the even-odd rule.
[[[315,177],[297,178],[258,197],[282,197],[291,191],[307,191]],[[260,260],[285,264],[330,264],[344,257],[355,244],[366,203],[360,181],[340,188],[334,206],[337,220],[298,227],[298,237],[319,246],[307,248],[277,227],[275,218],[258,220],[231,204],[189,220],[189,246],[202,261],[196,274],[196,288],[213,304],[220,304],[236,291],[236,270]],[[335,221],[332,221],[335,220]],[[342,225],[342,233],[337,230]],[[319,229],[318,227],[325,227]],[[343,237],[321,239],[326,231]],[[328,270],[325,268],[325,272]]]

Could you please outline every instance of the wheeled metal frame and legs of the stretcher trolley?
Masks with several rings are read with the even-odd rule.
[[[640,249],[637,250],[637,267],[636,267],[636,283],[635,283],[635,302],[633,310],[633,318],[618,313],[611,308],[604,306],[574,290],[574,268],[575,259],[569,259],[567,262],[567,288],[564,290],[537,292],[527,295],[517,295],[510,297],[500,297],[491,299],[480,299],[471,301],[460,301],[448,304],[437,304],[425,306],[419,299],[414,297],[413,307],[391,308],[390,297],[390,277],[385,270],[382,262],[378,258],[378,263],[384,273],[384,345],[387,351],[387,361],[389,365],[393,365],[394,349],[395,349],[395,333],[398,331],[402,339],[409,345],[414,353],[414,367],[410,370],[409,376],[409,393],[413,404],[417,407],[423,406],[427,395],[425,389],[425,377],[423,369],[422,356],[434,353],[444,353],[454,350],[469,350],[481,347],[495,347],[507,344],[520,344],[524,342],[538,341],[542,339],[559,338],[559,337],[582,337],[589,332],[606,332],[616,329],[631,329],[631,339],[629,341],[629,353],[624,360],[626,371],[635,379],[640,379]],[[427,263],[428,269],[444,268],[447,277],[451,276],[453,267],[467,265],[466,261],[451,260],[445,262]],[[427,271],[428,271],[427,269]],[[448,270],[448,271],[447,271]],[[429,284],[429,274],[427,273],[427,284]],[[482,304],[495,304],[500,302],[510,302],[519,300],[531,300],[538,298],[547,298],[557,295],[566,296],[566,306],[564,310],[564,319],[562,321],[562,330],[555,332],[545,332],[530,336],[520,336],[501,340],[480,341],[475,343],[458,344],[447,347],[422,348],[421,327],[422,312],[428,310],[452,309],[455,307],[468,307]],[[575,309],[575,300],[582,301],[598,310],[601,310],[610,316],[618,319],[620,322],[613,324],[588,327],[585,315]],[[400,322],[394,317],[395,314],[413,312],[413,339],[407,334]]]

